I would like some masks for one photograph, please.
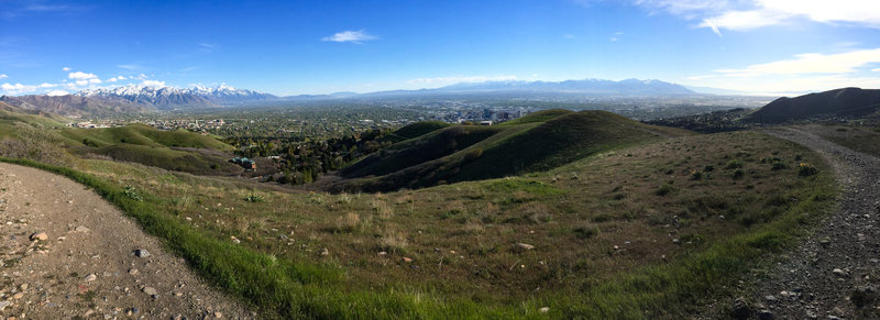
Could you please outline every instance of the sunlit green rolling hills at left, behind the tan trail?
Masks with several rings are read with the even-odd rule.
[[[40,161],[67,164],[74,153],[199,175],[234,175],[243,170],[228,162],[232,146],[211,136],[184,130],[158,131],[142,124],[72,129],[51,117],[0,104],[0,137],[8,137],[0,145],[7,150],[0,154],[41,155]]]

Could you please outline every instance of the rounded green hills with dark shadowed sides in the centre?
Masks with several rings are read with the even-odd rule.
[[[688,134],[605,111],[548,110],[493,126],[454,125],[340,172],[332,190],[395,190],[547,170],[596,152]]]

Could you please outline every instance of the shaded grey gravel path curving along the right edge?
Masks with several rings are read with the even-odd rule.
[[[778,265],[736,312],[758,319],[880,319],[880,159],[826,141],[809,128],[766,133],[807,146],[834,167],[840,205]],[[750,302],[750,304],[749,304]]]

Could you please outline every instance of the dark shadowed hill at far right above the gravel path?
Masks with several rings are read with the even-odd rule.
[[[842,88],[795,98],[779,98],[747,118],[751,122],[779,123],[818,115],[865,117],[880,110],[880,90]]]

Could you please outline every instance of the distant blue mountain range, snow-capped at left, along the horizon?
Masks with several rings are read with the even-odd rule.
[[[129,85],[97,88],[66,96],[30,95],[0,97],[0,101],[24,110],[55,112],[65,115],[117,112],[150,112],[175,109],[217,108],[258,104],[264,102],[297,102],[330,99],[408,98],[419,96],[606,96],[606,97],[680,97],[700,96],[676,84],[660,80],[626,79],[620,81],[584,79],[565,81],[487,81],[462,82],[436,89],[389,90],[370,93],[338,92],[332,95],[300,95],[278,97],[229,86],[215,88],[196,86],[175,88]]]

